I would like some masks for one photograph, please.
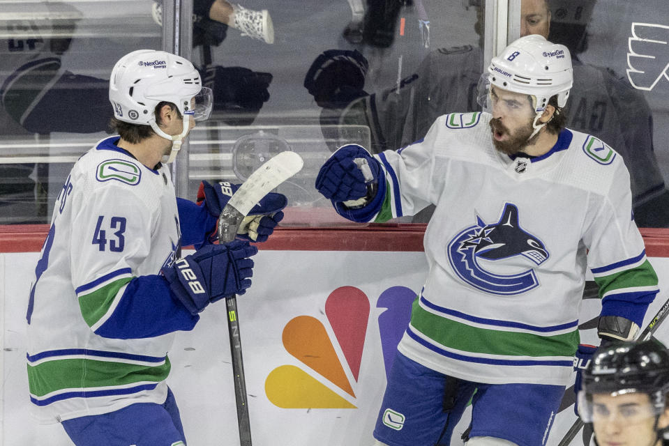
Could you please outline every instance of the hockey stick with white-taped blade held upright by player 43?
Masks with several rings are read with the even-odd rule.
[[[230,201],[218,218],[218,243],[234,240],[241,221],[251,208],[269,194],[278,185],[302,169],[303,161],[294,152],[281,152],[260,166],[234,192]],[[237,298],[230,295],[225,298],[227,307],[227,331],[230,334],[230,356],[234,376],[234,399],[237,406],[237,424],[239,426],[239,444],[251,446],[251,426],[248,418],[246,401],[246,378],[241,357],[241,339],[237,320]]]

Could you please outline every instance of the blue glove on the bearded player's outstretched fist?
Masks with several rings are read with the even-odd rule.
[[[365,178],[360,162],[366,160],[373,178]],[[316,177],[316,189],[332,201],[352,201],[368,197],[368,185],[378,183],[381,166],[368,151],[357,144],[339,148],[322,165]]]

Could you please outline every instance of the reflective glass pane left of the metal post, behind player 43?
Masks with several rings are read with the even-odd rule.
[[[47,222],[73,162],[105,136],[110,68],[160,47],[150,23],[144,1],[3,1],[0,224]]]

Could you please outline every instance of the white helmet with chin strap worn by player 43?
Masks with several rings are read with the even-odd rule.
[[[202,86],[193,63],[181,56],[153,49],[137,49],[123,56],[110,77],[110,102],[120,121],[151,125],[153,131],[172,142],[172,153],[164,162],[174,161],[186,136],[188,117],[204,121],[211,114],[213,94]],[[156,125],[154,111],[163,101],[172,102],[183,116],[183,131],[172,136]]]

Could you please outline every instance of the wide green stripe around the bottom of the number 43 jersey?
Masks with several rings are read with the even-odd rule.
[[[84,358],[53,360],[35,366],[28,364],[28,383],[31,394],[43,397],[60,390],[159,383],[167,378],[170,367],[167,357],[163,364],[153,367]]]

